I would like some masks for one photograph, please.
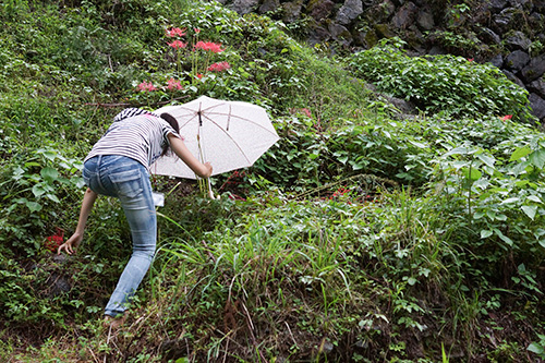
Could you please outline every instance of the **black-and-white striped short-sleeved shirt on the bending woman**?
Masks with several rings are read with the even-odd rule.
[[[130,157],[148,168],[169,145],[167,135],[180,135],[172,126],[156,114],[140,110],[120,112],[106,134],[93,146],[84,162],[97,155],[121,155]],[[138,109],[136,109],[138,110]]]

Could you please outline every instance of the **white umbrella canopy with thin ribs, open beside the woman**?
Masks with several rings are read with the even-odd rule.
[[[213,176],[252,166],[278,140],[264,108],[242,101],[201,96],[178,106],[155,111],[177,119],[185,146],[201,161],[210,161]],[[166,155],[152,166],[152,172],[196,179],[175,155]]]

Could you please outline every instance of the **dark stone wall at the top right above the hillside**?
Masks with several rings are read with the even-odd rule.
[[[310,45],[368,49],[398,36],[413,56],[452,53],[491,62],[528,89],[545,121],[545,0],[221,0],[298,25]]]

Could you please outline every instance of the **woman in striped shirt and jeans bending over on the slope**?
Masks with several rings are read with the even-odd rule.
[[[202,164],[185,147],[174,118],[168,113],[158,117],[136,108],[125,109],[116,116],[112,125],[84,159],[82,174],[88,187],[80,219],[74,234],[59,246],[58,253],[75,252],[98,194],[119,198],[131,228],[133,253],[105,308],[106,320],[116,327],[122,324],[126,305],[155,254],[157,218],[149,167],[169,147],[198,177],[210,177],[210,164]]]

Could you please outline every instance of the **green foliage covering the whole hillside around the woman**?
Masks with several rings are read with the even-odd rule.
[[[9,0],[0,19],[2,361],[543,355],[545,141],[492,66],[388,44],[324,57],[215,2]],[[471,46],[455,31],[444,40]],[[81,160],[119,110],[201,94],[264,106],[281,140],[216,178],[219,201],[154,177],[156,261],[113,335],[101,311],[131,253],[119,204],[97,201],[73,256],[47,235],[75,227]]]

